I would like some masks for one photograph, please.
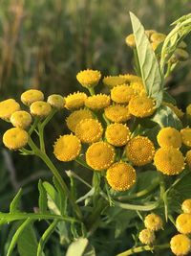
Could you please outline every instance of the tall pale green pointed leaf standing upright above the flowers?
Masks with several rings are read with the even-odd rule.
[[[159,107],[162,102],[162,78],[159,70],[159,62],[138,17],[132,12],[130,12],[130,17],[136,39],[141,78],[147,95],[155,99]]]

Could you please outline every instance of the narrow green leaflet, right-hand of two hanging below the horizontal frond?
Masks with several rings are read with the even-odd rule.
[[[43,249],[47,241],[49,240],[50,236],[53,234],[53,231],[57,225],[57,220],[54,220],[51,225],[47,228],[47,230],[42,235],[38,247],[37,247],[37,256],[43,256]]]

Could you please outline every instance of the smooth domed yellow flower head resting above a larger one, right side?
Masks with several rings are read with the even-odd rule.
[[[160,147],[181,147],[180,131],[176,128],[161,128],[157,139]]]

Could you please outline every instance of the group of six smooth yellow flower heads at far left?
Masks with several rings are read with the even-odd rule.
[[[20,100],[29,106],[29,111],[22,110],[21,105],[13,99],[0,102],[0,118],[14,127],[4,133],[3,143],[13,151],[20,150],[28,144],[28,129],[32,125],[32,117],[44,119],[51,113],[52,108],[61,109],[65,104],[64,98],[55,94],[50,95],[47,102],[44,102],[44,94],[36,89],[23,92]]]

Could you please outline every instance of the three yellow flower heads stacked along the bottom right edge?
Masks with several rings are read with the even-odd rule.
[[[185,199],[181,204],[181,213],[176,220],[176,227],[180,234],[171,238],[170,247],[177,256],[188,255],[191,252],[191,199]]]

